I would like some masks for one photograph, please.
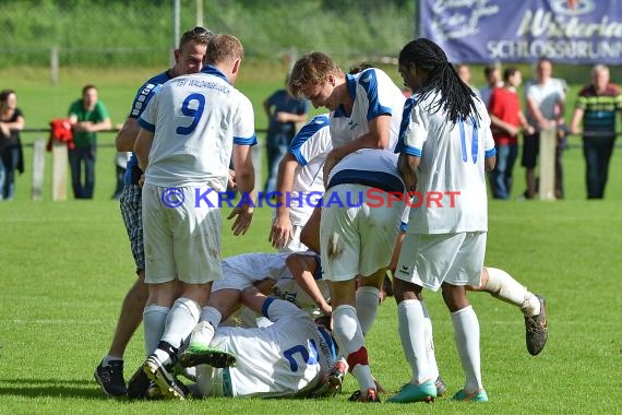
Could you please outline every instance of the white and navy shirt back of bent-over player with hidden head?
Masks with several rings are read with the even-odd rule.
[[[397,155],[388,150],[361,149],[348,154],[331,170],[328,188],[352,183],[404,193]]]

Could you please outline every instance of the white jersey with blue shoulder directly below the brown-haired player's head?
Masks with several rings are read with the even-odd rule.
[[[332,149],[328,114],[313,117],[289,144],[287,151],[298,162],[289,203],[289,220],[292,225],[304,225],[313,213],[313,203],[308,203],[307,200],[310,193],[318,194],[314,200],[319,200],[324,193],[323,166]]]

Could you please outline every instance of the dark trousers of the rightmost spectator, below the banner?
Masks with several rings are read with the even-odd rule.
[[[587,199],[602,199],[615,137],[583,138]]]

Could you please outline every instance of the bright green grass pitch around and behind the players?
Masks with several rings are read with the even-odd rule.
[[[74,85],[65,79],[58,87],[34,81],[28,85],[26,73],[15,88],[29,126],[41,127],[39,122],[64,115],[83,83],[109,85],[101,96],[115,103],[112,118],[120,122],[135,87],[153,72],[120,76],[123,81],[117,83],[113,73],[88,81],[87,75],[75,72],[71,76]],[[249,75],[239,85],[253,98],[255,109],[282,82],[280,75],[267,82],[261,76]],[[37,100],[37,92],[49,95]],[[37,102],[49,107],[37,106]],[[258,111],[258,127],[264,126],[262,117]],[[32,139],[29,135],[25,141]],[[108,138],[100,141],[105,140]],[[29,164],[29,149],[26,156]],[[487,294],[471,294],[481,327],[482,375],[490,402],[459,404],[440,399],[430,405],[349,403],[347,396],[356,389],[352,377],[334,400],[180,403],[104,398],[93,371],[108,348],[121,300],[134,278],[119,206],[108,200],[113,190],[112,158],[112,147],[100,150],[94,201],[51,202],[48,156],[43,201],[29,200],[27,171],[17,179],[16,200],[0,203],[0,413],[622,413],[622,341],[617,317],[622,299],[615,260],[622,246],[619,154],[613,155],[605,201],[584,200],[584,163],[581,149],[573,147],[564,155],[565,201],[490,202],[486,263],[506,270],[547,298],[549,344],[541,355],[529,356],[521,312]],[[516,167],[514,174],[517,195],[524,189],[524,171]],[[271,251],[266,242],[270,217],[267,209],[258,210],[251,230],[243,237],[231,236],[225,224],[224,254]],[[439,294],[427,293],[427,299],[441,374],[454,393],[464,379],[451,320]],[[409,378],[409,369],[399,345],[392,299],[380,308],[367,342],[375,376],[387,390],[397,390]],[[143,354],[139,331],[125,356],[127,378],[142,363]]]

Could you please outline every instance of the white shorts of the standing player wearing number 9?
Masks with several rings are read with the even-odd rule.
[[[206,191],[207,188],[201,189]],[[145,282],[179,280],[205,284],[220,280],[220,211],[194,205],[194,187],[143,187]],[[179,205],[178,205],[179,204]]]

